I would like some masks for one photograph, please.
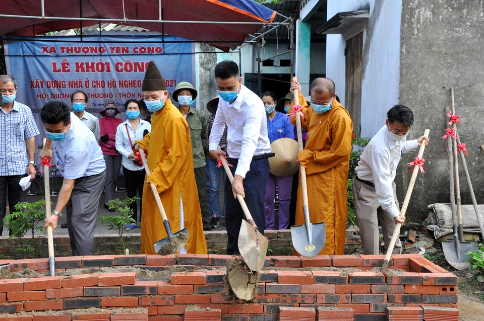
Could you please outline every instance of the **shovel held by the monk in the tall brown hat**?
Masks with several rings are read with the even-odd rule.
[[[140,152],[141,159],[143,161],[143,165],[145,166],[146,176],[149,177],[151,175],[150,168],[148,167],[148,162],[146,161],[145,152],[141,147],[138,147],[138,151]],[[163,239],[160,239],[158,242],[155,242],[155,252],[160,255],[168,255],[168,254],[175,254],[180,252],[180,250],[187,244],[188,241],[188,229],[184,228],[176,233],[171,232],[170,222],[168,222],[168,218],[166,217],[165,210],[163,208],[163,204],[161,204],[160,195],[156,190],[155,184],[148,182],[150,184],[151,190],[153,191],[153,196],[155,197],[156,204],[158,205],[158,209],[160,210],[161,218],[163,219],[163,226],[165,227],[166,236]]]

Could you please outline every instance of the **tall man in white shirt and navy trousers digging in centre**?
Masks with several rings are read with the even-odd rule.
[[[247,87],[241,85],[238,66],[233,61],[222,61],[215,67],[219,99],[210,133],[210,156],[218,159],[217,150],[227,124],[227,162],[234,167],[233,183],[225,183],[227,226],[227,254],[239,254],[238,233],[245,218],[236,194],[245,198],[257,228],[264,233],[264,198],[269,177],[268,157],[274,155],[267,136],[264,103]],[[222,152],[222,154],[225,154]],[[230,197],[230,193],[233,197]]]

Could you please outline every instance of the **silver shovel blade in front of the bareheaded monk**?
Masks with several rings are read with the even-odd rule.
[[[326,244],[326,224],[309,223],[312,239],[309,239],[306,225],[291,226],[292,246],[300,255],[307,258],[314,258]]]

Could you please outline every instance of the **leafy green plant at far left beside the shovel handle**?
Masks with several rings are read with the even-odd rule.
[[[20,248],[15,251],[22,255],[22,258],[33,258],[35,253],[34,233],[43,229],[45,211],[43,210],[45,200],[38,202],[20,202],[15,205],[15,212],[4,218],[4,228],[11,230],[9,239],[17,238]],[[27,233],[32,233],[32,238],[28,241],[25,239]]]

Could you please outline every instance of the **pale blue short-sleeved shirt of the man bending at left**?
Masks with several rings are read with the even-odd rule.
[[[75,180],[106,170],[101,147],[93,132],[74,113],[71,113],[71,127],[67,136],[54,141],[54,153],[57,168],[65,179]]]

